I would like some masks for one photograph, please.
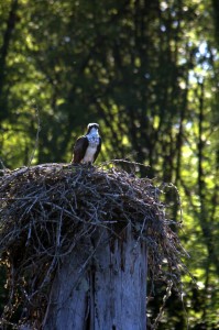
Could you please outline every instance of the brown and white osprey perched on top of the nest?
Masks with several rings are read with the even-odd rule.
[[[77,139],[74,146],[73,164],[92,164],[95,163],[100,148],[101,138],[98,132],[99,124],[89,123],[87,125],[87,133]]]

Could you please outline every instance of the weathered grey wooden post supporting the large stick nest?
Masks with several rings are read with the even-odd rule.
[[[43,329],[145,330],[145,244],[128,227],[122,239],[102,229],[88,245],[63,260]]]

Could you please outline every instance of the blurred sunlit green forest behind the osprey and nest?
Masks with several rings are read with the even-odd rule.
[[[194,279],[158,329],[219,329],[219,2],[1,1],[1,167],[70,162],[88,122],[101,128],[98,162],[150,165],[138,175],[179,190]]]

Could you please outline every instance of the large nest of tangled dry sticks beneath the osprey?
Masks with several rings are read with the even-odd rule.
[[[0,257],[8,304],[1,324],[46,308],[58,261],[101,228],[120,240],[131,226],[149,248],[150,276],[178,282],[185,254],[161,190],[147,178],[110,168],[44,164],[3,172],[0,178]]]

